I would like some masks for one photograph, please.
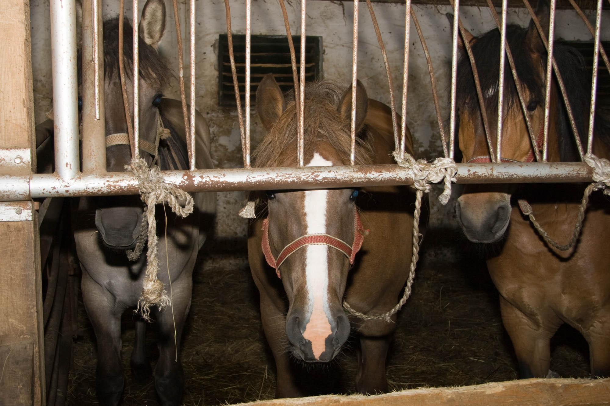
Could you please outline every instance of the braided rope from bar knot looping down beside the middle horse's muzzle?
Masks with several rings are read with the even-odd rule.
[[[347,313],[364,320],[384,320],[388,323],[393,322],[392,316],[400,310],[411,296],[411,285],[415,279],[415,268],[419,259],[420,241],[422,234],[419,232],[419,219],[422,212],[422,196],[431,190],[430,183],[445,182],[443,193],[439,196],[441,204],[445,205],[451,196],[451,182],[455,182],[455,174],[458,171],[458,166],[452,158],[436,158],[431,164],[425,160],[415,160],[409,154],[405,155],[406,159],[400,158],[400,153],[395,151],[394,158],[398,165],[403,168],[411,169],[414,179],[413,188],[415,188],[415,211],[413,213],[413,247],[411,265],[409,266],[409,276],[407,277],[406,286],[404,287],[403,297],[398,304],[395,305],[389,312],[382,315],[365,315],[364,313],[354,310],[346,301],[343,301],[343,308]]]

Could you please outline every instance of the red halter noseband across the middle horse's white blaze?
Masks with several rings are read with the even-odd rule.
[[[360,251],[362,247],[362,241],[364,240],[365,230],[362,228],[362,223],[360,221],[360,216],[358,215],[358,210],[354,207],[354,243],[350,247],[347,243],[339,238],[332,237],[332,235],[328,234],[306,234],[282,249],[282,251],[278,255],[278,259],[273,257],[271,254],[271,247],[269,246],[269,219],[265,218],[263,220],[263,239],[261,241],[261,246],[263,249],[263,254],[265,254],[265,259],[271,268],[275,268],[276,274],[278,274],[278,278],[281,278],[279,275],[279,266],[284,263],[285,259],[289,257],[290,254],[297,251],[300,248],[303,248],[307,245],[315,245],[315,244],[323,244],[328,245],[329,247],[338,249],[343,252],[346,257],[350,258],[350,263],[354,263],[354,257],[356,257],[356,253]]]

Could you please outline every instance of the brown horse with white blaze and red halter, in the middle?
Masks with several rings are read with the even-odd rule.
[[[284,96],[268,74],[257,88],[256,109],[268,133],[253,152],[254,165],[296,166],[294,94]],[[351,88],[344,93],[329,81],[306,84],[304,109],[304,163],[349,165]],[[394,163],[390,109],[368,99],[360,82],[356,121],[356,164]],[[411,134],[407,152],[412,153]],[[303,396],[293,361],[328,363],[351,327],[361,344],[356,390],[387,391],[386,355],[395,323],[346,315],[342,302],[367,315],[386,313],[397,303],[411,260],[408,209],[414,193],[407,187],[367,187],[270,190],[260,196],[258,218],[249,226],[248,259],[276,364],[276,397]]]

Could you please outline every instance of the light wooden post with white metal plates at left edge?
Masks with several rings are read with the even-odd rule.
[[[0,175],[35,168],[28,0],[0,7]],[[32,201],[0,202],[0,404],[44,405],[38,222]]]

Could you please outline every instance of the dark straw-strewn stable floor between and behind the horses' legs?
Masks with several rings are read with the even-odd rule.
[[[204,247],[203,254],[184,333],[182,401],[200,406],[270,399],[274,364],[260,327],[246,241],[215,241]],[[461,233],[429,230],[416,273],[387,360],[390,387],[402,390],[516,379],[517,363],[501,324],[498,293],[480,255]],[[126,371],[134,337],[132,317],[127,312],[123,323]],[[79,324],[68,404],[93,405],[97,404],[95,336],[82,309]],[[154,331],[149,331],[147,340],[154,359]],[[562,327],[551,344],[553,371],[562,377],[589,376],[587,345],[575,330]],[[352,338],[345,347],[331,365],[311,371],[318,382],[312,384],[312,391],[353,393],[357,341]],[[157,404],[153,383],[138,386],[127,372],[123,405]]]

